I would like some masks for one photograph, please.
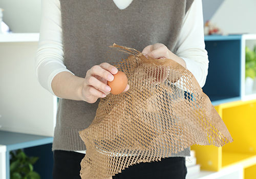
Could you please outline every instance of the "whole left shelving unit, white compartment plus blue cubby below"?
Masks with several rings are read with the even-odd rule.
[[[40,174],[51,178],[57,98],[36,79],[38,40],[39,33],[0,34],[0,179],[10,178],[9,152],[19,148],[41,155]]]

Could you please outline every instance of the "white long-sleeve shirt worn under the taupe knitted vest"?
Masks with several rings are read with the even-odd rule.
[[[132,0],[113,1],[119,9],[125,9],[132,2]],[[63,64],[60,2],[42,0],[41,8],[40,37],[35,58],[36,76],[39,83],[54,95],[51,83],[55,75],[63,71],[70,72]],[[187,70],[203,87],[208,72],[208,56],[204,43],[201,0],[195,0],[186,13],[176,55],[184,59]]]

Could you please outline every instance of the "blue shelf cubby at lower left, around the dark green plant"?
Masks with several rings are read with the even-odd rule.
[[[10,155],[11,150],[24,149],[29,156],[39,156],[38,167],[34,166],[42,178],[49,178],[52,172],[53,157],[52,157],[52,142],[53,137],[28,135],[25,133],[9,132],[0,130],[0,145],[6,146],[5,166],[6,178],[10,178]],[[3,162],[3,160],[2,160]],[[44,166],[44,167],[41,167]]]

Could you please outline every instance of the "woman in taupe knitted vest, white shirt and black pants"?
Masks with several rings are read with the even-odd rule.
[[[99,98],[117,73],[105,62],[113,43],[173,59],[202,87],[208,69],[201,0],[42,0],[36,73],[60,98],[54,132],[54,178],[80,178],[86,153],[78,131],[94,119]],[[129,90],[129,85],[124,91]],[[185,178],[189,148],[161,162],[129,167],[113,178]]]

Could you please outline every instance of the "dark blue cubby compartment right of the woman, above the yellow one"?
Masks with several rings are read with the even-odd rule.
[[[238,38],[240,37],[240,38]],[[209,69],[203,92],[214,104],[241,99],[241,36],[205,40]]]

